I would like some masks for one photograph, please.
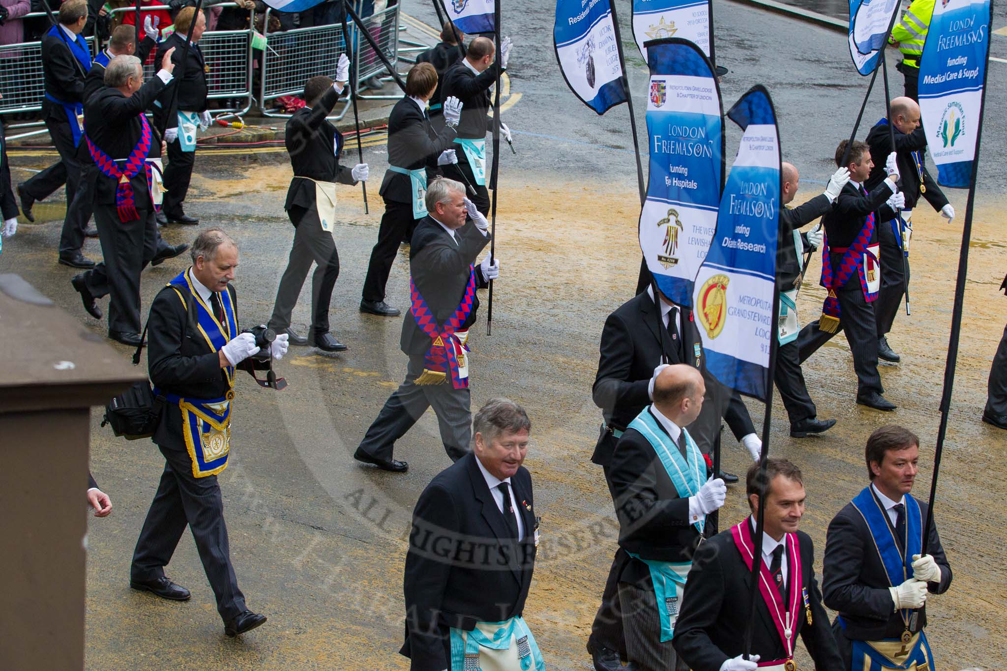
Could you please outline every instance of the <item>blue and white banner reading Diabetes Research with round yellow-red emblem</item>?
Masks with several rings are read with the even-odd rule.
[[[693,292],[707,369],[725,386],[762,400],[775,337],[773,295],[779,230],[779,140],[769,94],[752,87],[727,116],[741,127],[717,232]]]

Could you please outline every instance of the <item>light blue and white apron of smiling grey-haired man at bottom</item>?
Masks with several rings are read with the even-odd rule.
[[[451,628],[450,671],[545,671],[539,644],[525,619],[477,622],[466,632]]]

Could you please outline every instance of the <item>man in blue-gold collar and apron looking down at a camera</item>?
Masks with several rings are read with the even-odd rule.
[[[217,597],[224,633],[234,637],[263,624],[266,616],[248,610],[238,589],[217,474],[227,468],[231,451],[235,375],[239,368],[261,368],[249,358],[259,347],[238,324],[238,296],[231,284],[238,266],[235,241],[209,228],[195,238],[190,255],[192,266],[150,306],[147,364],[155,393],[166,401],[153,441],[165,466],[133,552],[130,586],[163,599],[189,599],[188,590],[164,576],[187,524]],[[281,358],[286,336],[277,336],[270,350],[273,358]]]

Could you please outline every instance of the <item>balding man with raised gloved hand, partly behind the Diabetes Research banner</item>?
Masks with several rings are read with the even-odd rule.
[[[776,243],[776,291],[779,293],[779,348],[776,350],[776,371],[773,379],[779,397],[790,420],[790,436],[805,438],[821,434],[836,425],[835,420],[819,420],[815,403],[808,393],[805,375],[801,371],[798,350],[798,291],[806,251],[822,245],[822,226],[815,226],[807,233],[800,228],[832,210],[832,203],[843,186],[850,181],[847,168],[837,170],[829,180],[825,193],[820,193],[803,205],[787,207],[798,192],[801,175],[793,163],[781,166],[783,209],[779,212],[779,240]]]

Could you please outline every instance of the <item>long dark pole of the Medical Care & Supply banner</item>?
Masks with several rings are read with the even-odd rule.
[[[990,21],[993,19],[993,0],[990,0]],[[989,33],[987,33],[988,35]],[[987,37],[989,39],[989,37]],[[925,48],[925,47],[924,47]],[[976,153],[972,159],[972,179],[969,181],[969,200],[965,206],[965,224],[962,226],[962,247],[959,251],[958,278],[955,281],[955,306],[951,313],[951,335],[948,338],[948,359],[945,362],[944,389],[941,393],[941,424],[938,427],[938,441],[933,453],[933,475],[930,478],[930,498],[926,507],[926,523],[923,525],[923,553],[927,547],[930,529],[933,527],[933,504],[938,494],[938,475],[941,472],[941,456],[944,452],[945,436],[948,433],[948,413],[951,411],[952,386],[955,384],[955,367],[958,364],[959,334],[962,330],[962,312],[965,304],[965,283],[969,269],[969,243],[972,240],[973,204],[976,198],[976,178],[979,176],[979,149],[983,139],[983,117],[986,115],[986,85],[990,74],[990,44],[986,43],[986,66],[983,70],[983,93],[979,97],[979,123],[976,125]]]

